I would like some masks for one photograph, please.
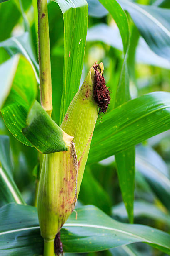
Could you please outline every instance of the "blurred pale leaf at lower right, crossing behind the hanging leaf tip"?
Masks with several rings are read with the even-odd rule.
[[[127,219],[128,215],[124,204],[121,202],[112,207],[112,214],[118,215],[122,219]],[[134,217],[135,218],[149,218],[155,221],[161,221],[170,226],[170,215],[166,214],[158,206],[143,200],[135,200],[134,202]]]

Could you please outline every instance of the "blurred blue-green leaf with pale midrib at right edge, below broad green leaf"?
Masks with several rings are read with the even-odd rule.
[[[137,147],[136,168],[143,174],[151,189],[170,211],[169,170],[160,156],[149,147]]]

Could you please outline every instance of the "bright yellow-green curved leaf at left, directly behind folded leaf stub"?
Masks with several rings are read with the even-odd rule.
[[[20,56],[18,67],[4,107],[1,110],[5,125],[22,143],[32,146],[22,133],[26,126],[28,110],[37,94],[34,71],[25,57]]]

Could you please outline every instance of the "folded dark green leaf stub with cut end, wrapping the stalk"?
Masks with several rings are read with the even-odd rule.
[[[62,129],[50,118],[40,103],[33,103],[23,134],[43,154],[68,150]]]

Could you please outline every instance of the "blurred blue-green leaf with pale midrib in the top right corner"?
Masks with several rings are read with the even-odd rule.
[[[170,60],[170,12],[156,6],[117,0],[130,13],[141,36],[159,56]]]

